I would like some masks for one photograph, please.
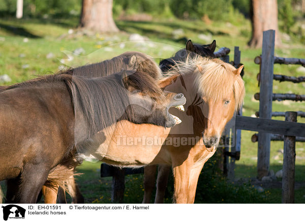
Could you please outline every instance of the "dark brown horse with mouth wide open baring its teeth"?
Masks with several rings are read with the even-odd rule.
[[[56,179],[50,174],[62,176],[60,166],[76,143],[101,130],[111,134],[118,120],[174,126],[168,109],[184,103],[182,94],[165,95],[138,71],[100,78],[56,74],[2,88],[0,181],[8,181],[7,202],[36,203],[46,180]]]

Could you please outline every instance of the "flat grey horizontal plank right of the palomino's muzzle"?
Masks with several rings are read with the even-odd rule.
[[[305,137],[305,123],[236,116],[235,127],[242,130]]]

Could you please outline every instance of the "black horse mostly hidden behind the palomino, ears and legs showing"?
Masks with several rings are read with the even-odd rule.
[[[208,58],[215,58],[214,51],[216,48],[216,40],[207,45],[193,44],[189,40],[186,44],[185,49],[180,49],[175,55],[169,59],[162,60],[160,62],[160,68],[163,72],[167,72],[177,62],[186,61],[189,57],[195,57],[196,55]],[[193,107],[193,106],[191,106]],[[187,113],[188,115],[188,113]],[[144,168],[144,197],[143,204],[150,203],[151,195],[155,188],[157,165],[147,165]],[[168,177],[170,174],[171,166],[160,164],[158,167],[158,178],[157,178],[157,191],[155,203],[163,203],[165,190],[168,183]]]

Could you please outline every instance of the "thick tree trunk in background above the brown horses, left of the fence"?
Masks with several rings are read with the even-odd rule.
[[[118,32],[112,18],[112,0],[83,0],[80,26],[101,33]]]

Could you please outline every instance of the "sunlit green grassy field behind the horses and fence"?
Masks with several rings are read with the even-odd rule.
[[[251,116],[258,110],[259,103],[254,100],[253,95],[259,91],[256,80],[259,66],[254,64],[253,60],[261,53],[261,49],[251,49],[247,46],[251,35],[251,25],[248,20],[240,19],[236,21],[236,24],[228,22],[206,24],[202,21],[182,20],[118,20],[116,23],[121,32],[115,35],[79,35],[76,30],[77,22],[77,18],[70,20],[0,19],[0,75],[8,74],[11,77],[12,81],[7,85],[39,75],[55,73],[69,66],[75,67],[109,59],[128,50],[145,52],[159,62],[160,58],[168,58],[184,47],[184,43],[179,40],[181,37],[185,36],[201,44],[207,44],[216,39],[219,47],[228,47],[231,51],[234,46],[239,46],[241,62],[245,65],[246,98],[243,115]],[[177,32],[177,29],[182,31],[180,30],[178,35],[173,34]],[[149,41],[141,44],[129,42],[129,36],[132,33],[143,35]],[[276,48],[276,56],[305,58],[304,45],[293,38],[282,39],[281,47]],[[73,54],[77,48],[83,48],[85,52],[80,56]],[[230,57],[233,58],[233,52],[230,53]],[[294,65],[275,65],[274,72],[291,76],[304,75],[297,72],[297,68],[298,66]],[[274,81],[273,92],[305,94],[305,84]],[[305,110],[305,103],[273,102],[273,110],[279,112]],[[283,120],[283,118],[277,119]],[[299,118],[298,122],[305,121]],[[257,144],[251,142],[253,133],[242,131],[241,157],[236,162],[237,179],[256,177]],[[270,170],[274,172],[282,169],[282,150],[283,142],[271,142]],[[88,203],[110,202],[111,179],[99,177],[99,166],[100,163],[85,162],[78,168],[81,173],[84,173],[78,180]],[[305,182],[305,147],[302,143],[296,144],[295,177],[297,182]],[[125,201],[140,203],[143,195],[142,176],[128,176],[126,180]],[[296,190],[297,203],[305,203],[303,190],[305,190],[304,187],[298,187]],[[262,203],[281,202],[280,188],[268,188],[264,193],[268,195],[264,196]],[[166,202],[171,202],[169,196]],[[229,203],[230,200],[223,202]]]

